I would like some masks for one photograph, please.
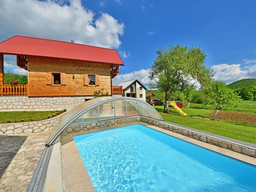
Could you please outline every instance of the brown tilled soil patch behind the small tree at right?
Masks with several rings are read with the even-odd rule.
[[[211,118],[212,116],[213,115],[211,115]],[[243,124],[256,125],[256,114],[246,112],[220,111],[217,114],[216,120],[234,121]]]

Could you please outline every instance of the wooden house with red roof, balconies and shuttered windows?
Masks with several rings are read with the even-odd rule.
[[[17,55],[17,65],[28,71],[27,85],[3,84],[4,54]],[[0,95],[93,97],[100,89],[122,94],[121,86],[112,86],[122,65],[113,49],[16,35],[0,43]]]

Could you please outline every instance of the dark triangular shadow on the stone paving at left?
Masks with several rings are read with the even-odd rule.
[[[26,139],[27,136],[0,136],[0,178]]]

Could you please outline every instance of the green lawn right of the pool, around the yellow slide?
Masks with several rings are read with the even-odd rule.
[[[182,111],[187,113],[187,116],[182,117],[175,109],[172,109],[171,114],[165,114],[163,113],[163,106],[154,107],[165,121],[256,144],[256,127],[250,127],[249,125],[242,124],[238,125],[225,121],[212,121],[203,118],[192,117],[192,115],[209,117],[209,115],[213,113],[212,109],[183,108]]]

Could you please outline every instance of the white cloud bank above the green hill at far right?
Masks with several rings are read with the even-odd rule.
[[[248,70],[242,70],[240,64],[212,65],[211,68],[216,70],[214,79],[224,81],[226,84],[256,77],[256,65],[247,66]]]

